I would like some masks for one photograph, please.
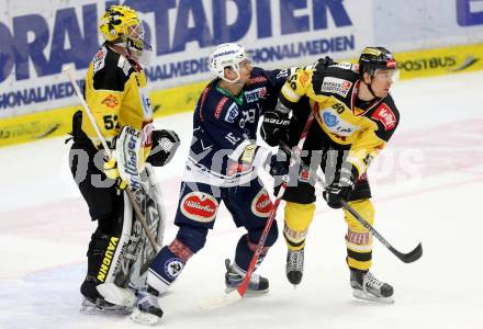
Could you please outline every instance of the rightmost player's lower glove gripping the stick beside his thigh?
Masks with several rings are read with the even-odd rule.
[[[349,198],[356,188],[357,177],[358,172],[355,167],[352,167],[352,170],[342,167],[339,178],[334,180],[323,193],[329,207],[335,209],[342,207],[340,200],[347,201]]]

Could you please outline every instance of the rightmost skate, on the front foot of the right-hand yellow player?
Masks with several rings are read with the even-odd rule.
[[[350,286],[352,287],[352,295],[356,298],[371,302],[394,303],[393,287],[390,284],[378,280],[369,271],[350,269]]]

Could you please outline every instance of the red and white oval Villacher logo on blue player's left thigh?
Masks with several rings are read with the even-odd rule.
[[[181,200],[181,213],[195,222],[212,222],[216,216],[217,208],[218,202],[216,198],[203,192],[188,193]]]

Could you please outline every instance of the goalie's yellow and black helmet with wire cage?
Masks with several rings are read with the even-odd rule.
[[[142,52],[150,46],[144,41],[144,26],[137,12],[127,5],[111,5],[102,15],[99,31],[110,43],[126,43]]]

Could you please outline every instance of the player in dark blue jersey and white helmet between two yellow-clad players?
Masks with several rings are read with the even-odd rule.
[[[287,72],[254,67],[246,50],[237,44],[222,44],[210,56],[210,70],[216,76],[203,90],[193,115],[193,139],[181,183],[175,224],[175,240],[165,246],[151,263],[148,291],[133,319],[159,320],[157,296],[179,276],[188,260],[200,251],[213,228],[223,201],[237,227],[247,230],[226,260],[226,288],[235,290],[244,280],[272,203],[257,175],[265,168],[272,175],[288,173],[287,155],[272,155],[256,145],[259,117],[277,104]],[[278,237],[271,226],[260,261]],[[234,246],[235,247],[235,246]],[[266,293],[269,281],[252,274],[247,293]],[[159,314],[159,313],[157,313]]]

